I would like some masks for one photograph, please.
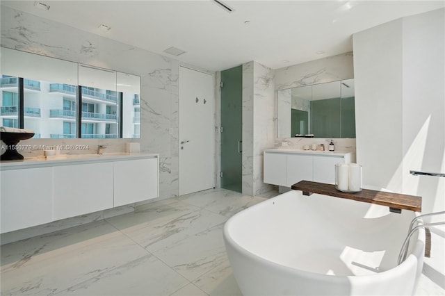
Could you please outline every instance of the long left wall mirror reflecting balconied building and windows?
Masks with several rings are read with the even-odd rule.
[[[140,76],[2,47],[0,91],[0,125],[34,138],[140,138]]]

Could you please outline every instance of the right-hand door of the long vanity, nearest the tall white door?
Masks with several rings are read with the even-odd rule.
[[[159,161],[147,158],[114,163],[114,206],[159,196]]]

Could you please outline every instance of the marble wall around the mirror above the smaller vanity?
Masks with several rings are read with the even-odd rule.
[[[339,81],[342,79],[351,79],[354,77],[353,53],[347,52],[337,56],[312,60],[307,63],[292,65],[275,69],[275,110],[277,106],[277,90],[286,90],[296,88],[302,85],[312,85],[316,83],[326,83]],[[278,111],[275,112],[274,131],[278,130]],[[275,147],[289,145],[301,149],[303,145],[312,143],[324,143],[325,147],[329,145],[331,139],[318,138],[282,138],[277,135],[275,138]],[[355,139],[334,139],[335,149],[339,151],[348,151],[353,153],[355,160]]]

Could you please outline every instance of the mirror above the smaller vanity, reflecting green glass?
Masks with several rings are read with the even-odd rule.
[[[354,79],[278,90],[278,138],[355,138]]]

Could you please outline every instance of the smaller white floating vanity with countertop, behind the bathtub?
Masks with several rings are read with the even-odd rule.
[[[350,153],[264,150],[264,183],[291,187],[299,181],[335,183],[335,164],[350,163]]]

